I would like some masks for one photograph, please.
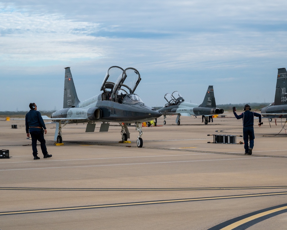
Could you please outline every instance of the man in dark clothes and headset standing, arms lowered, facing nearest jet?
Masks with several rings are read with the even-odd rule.
[[[44,139],[44,133],[47,133],[47,129],[41,116],[41,113],[37,111],[37,106],[35,103],[30,103],[29,107],[30,111],[26,114],[25,123],[27,137],[30,137],[31,134],[32,138],[32,150],[34,160],[40,159],[40,157],[37,156],[37,140],[41,143],[41,150],[44,155],[44,158],[52,157],[52,155],[48,154],[47,152],[46,141]]]

